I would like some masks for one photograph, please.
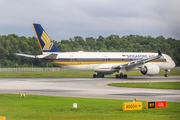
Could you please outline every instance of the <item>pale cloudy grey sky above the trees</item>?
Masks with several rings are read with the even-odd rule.
[[[179,6],[179,0],[0,0],[0,35],[32,37],[32,23],[39,23],[56,41],[130,34],[180,40]]]

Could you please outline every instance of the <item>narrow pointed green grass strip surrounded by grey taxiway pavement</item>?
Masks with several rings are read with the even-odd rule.
[[[115,87],[132,87],[132,88],[154,88],[154,89],[177,89],[180,90],[180,82],[152,82],[150,83],[110,83]]]

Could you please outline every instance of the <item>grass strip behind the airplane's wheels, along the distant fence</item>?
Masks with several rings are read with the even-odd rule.
[[[0,72],[0,78],[43,78],[43,77],[92,77],[94,71],[45,71],[45,72]],[[128,71],[124,74],[128,76],[142,76],[140,71]],[[164,75],[165,71],[161,71],[158,75]],[[109,75],[115,76],[116,73]],[[180,75],[180,70],[171,70],[169,75]]]

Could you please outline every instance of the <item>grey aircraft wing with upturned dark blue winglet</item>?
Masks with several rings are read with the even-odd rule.
[[[125,64],[113,66],[112,68],[113,69],[121,69],[121,68],[126,68],[126,67],[133,67],[135,65],[140,65],[140,64],[144,64],[144,63],[150,62],[150,61],[155,60],[155,59],[159,59],[162,56],[162,53],[158,49],[157,49],[157,52],[158,52],[158,55],[155,57],[131,61],[131,62],[128,62]]]

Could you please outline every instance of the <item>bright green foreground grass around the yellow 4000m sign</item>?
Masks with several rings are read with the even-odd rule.
[[[0,94],[0,116],[7,120],[179,120],[180,103],[167,102],[167,108],[122,111],[124,102],[132,100],[53,97]],[[77,103],[77,109],[73,109]]]

